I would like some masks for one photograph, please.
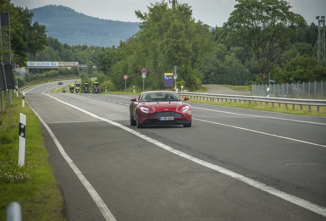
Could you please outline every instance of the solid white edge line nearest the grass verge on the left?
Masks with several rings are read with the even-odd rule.
[[[112,213],[110,212],[110,210],[108,209],[108,207],[105,205],[105,203],[103,202],[103,200],[101,199],[101,197],[98,195],[98,193],[96,192],[96,190],[93,188],[93,186],[90,184],[90,182],[88,182],[88,180],[85,178],[85,176],[83,175],[83,173],[78,169],[78,167],[74,164],[74,162],[70,159],[70,157],[67,155],[66,151],[64,150],[64,148],[61,146],[61,144],[59,143],[59,141],[56,139],[55,135],[53,134],[52,130],[50,129],[50,127],[44,122],[44,120],[34,111],[34,109],[32,107],[30,107],[32,109],[32,111],[35,113],[35,115],[38,117],[38,119],[40,120],[40,122],[42,122],[42,124],[45,126],[45,128],[48,130],[49,134],[51,135],[54,143],[56,144],[56,146],[58,147],[60,153],[62,154],[62,156],[64,157],[64,159],[66,160],[66,162],[69,164],[69,166],[71,167],[71,169],[74,171],[74,173],[77,175],[77,178],[80,180],[80,182],[85,186],[85,188],[87,189],[87,191],[89,192],[89,194],[92,196],[95,204],[97,205],[97,207],[99,208],[99,210],[101,211],[101,213],[103,214],[104,218],[107,221],[116,221],[116,219],[114,218],[114,216],[112,215]]]

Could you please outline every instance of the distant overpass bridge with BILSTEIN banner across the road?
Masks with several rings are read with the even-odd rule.
[[[75,61],[27,61],[26,66],[21,69],[16,69],[15,73],[18,75],[29,75],[29,69],[59,69],[77,67],[80,70],[87,68],[86,64],[79,64]],[[92,67],[92,70],[97,70],[96,66]]]

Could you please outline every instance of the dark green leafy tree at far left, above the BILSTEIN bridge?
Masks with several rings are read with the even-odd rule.
[[[10,42],[13,60],[24,66],[29,54],[35,55],[47,45],[46,27],[35,22],[33,13],[22,7],[14,7],[10,0],[0,0],[0,12],[10,14]]]

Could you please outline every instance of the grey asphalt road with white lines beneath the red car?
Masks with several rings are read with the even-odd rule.
[[[190,102],[192,127],[137,129],[133,96],[56,86],[25,98],[68,220],[326,220],[326,118]]]

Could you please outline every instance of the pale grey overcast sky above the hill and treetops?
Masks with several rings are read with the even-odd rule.
[[[168,2],[169,0],[165,0]],[[172,0],[170,0],[172,2]],[[92,17],[119,21],[140,22],[134,11],[148,12],[147,6],[161,0],[11,0],[15,6],[34,9],[46,5],[63,5]],[[215,27],[221,27],[236,5],[235,0],[177,0],[192,7],[196,21]],[[326,0],[288,0],[291,11],[300,14],[307,21],[317,24],[316,16],[326,16]]]

